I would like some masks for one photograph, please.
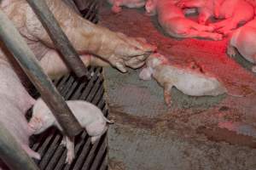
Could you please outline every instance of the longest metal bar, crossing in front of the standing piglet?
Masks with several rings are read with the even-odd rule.
[[[42,95],[42,98],[53,112],[57,122],[61,125],[63,132],[66,133],[68,137],[79,134],[82,127],[78,120],[73,116],[72,111],[70,111],[65,100],[61,94],[58,93],[49,77],[44,74],[38,60],[27,46],[25,40],[20,36],[19,31],[15,29],[13,23],[3,14],[1,9],[0,37],[6,47],[9,48],[9,52],[14,55],[15,59],[21,65],[21,68],[26,72],[26,75]]]

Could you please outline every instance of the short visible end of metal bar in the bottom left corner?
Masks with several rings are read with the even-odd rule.
[[[2,123],[0,123],[0,135],[0,156],[10,169],[39,170]]]

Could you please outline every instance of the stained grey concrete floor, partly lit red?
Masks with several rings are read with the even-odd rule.
[[[230,94],[189,97],[172,89],[167,108],[162,88],[138,79],[139,70],[122,74],[105,68],[109,115],[110,169],[114,170],[254,170],[256,169],[256,79],[252,66],[226,54],[219,42],[178,40],[162,33],[156,19],[143,9],[112,14],[104,4],[100,24],[132,37],[145,37],[178,65],[195,60],[214,74]]]

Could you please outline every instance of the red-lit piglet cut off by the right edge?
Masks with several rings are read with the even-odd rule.
[[[256,19],[251,20],[245,26],[233,32],[227,48],[227,54],[230,57],[236,55],[236,49],[242,57],[256,64]],[[252,67],[252,71],[256,72],[256,66]]]

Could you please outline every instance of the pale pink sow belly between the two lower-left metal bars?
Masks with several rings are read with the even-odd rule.
[[[35,100],[26,92],[12,66],[4,59],[0,60],[0,80],[0,122],[29,156],[40,159],[40,155],[28,146],[32,129],[25,117]]]

